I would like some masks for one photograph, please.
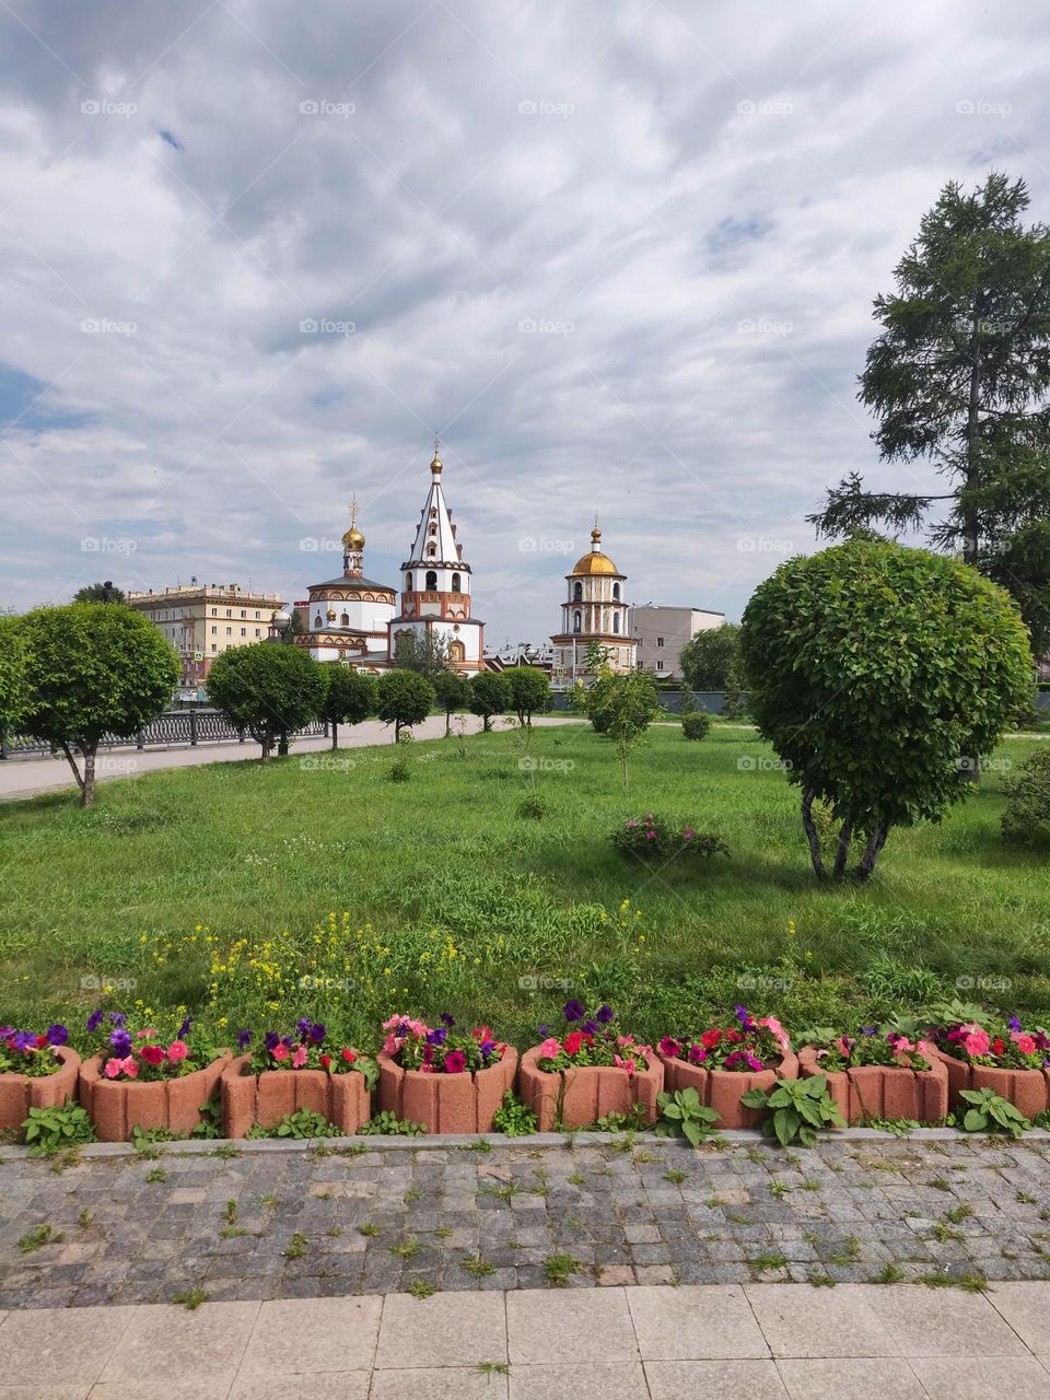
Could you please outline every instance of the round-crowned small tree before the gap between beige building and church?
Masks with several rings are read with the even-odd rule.
[[[269,759],[274,742],[284,745],[325,701],[325,678],[308,652],[256,641],[220,652],[207,673],[207,697],[227,720],[244,729]]]

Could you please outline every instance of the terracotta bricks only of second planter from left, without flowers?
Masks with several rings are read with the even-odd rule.
[[[97,1054],[80,1067],[80,1102],[99,1142],[126,1142],[133,1127],[189,1134],[200,1123],[200,1105],[214,1093],[228,1061],[230,1051],[221,1050],[203,1070],[174,1079],[106,1079],[102,1056]]]

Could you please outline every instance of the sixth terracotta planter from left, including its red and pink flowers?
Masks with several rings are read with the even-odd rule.
[[[750,1128],[762,1119],[741,1098],[750,1089],[771,1089],[777,1079],[798,1078],[798,1060],[776,1016],[755,1019],[738,1007],[729,1026],[708,1026],[696,1036],[664,1036],[658,1046],[666,1086],[696,1089],[718,1126]]]

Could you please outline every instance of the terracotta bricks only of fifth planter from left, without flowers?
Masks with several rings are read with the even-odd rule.
[[[631,1105],[645,1109],[645,1121],[657,1121],[657,1095],[664,1088],[664,1065],[650,1057],[648,1070],[627,1074],[617,1065],[580,1065],[574,1070],[547,1072],[538,1067],[540,1046],[521,1057],[518,1095],[536,1114],[536,1128],[550,1133],[559,1119],[561,1127],[581,1128],[596,1123],[606,1113],[630,1113]]]

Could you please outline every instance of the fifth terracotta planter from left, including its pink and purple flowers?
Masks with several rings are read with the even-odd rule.
[[[539,1131],[587,1127],[609,1113],[629,1114],[634,1105],[655,1123],[664,1067],[651,1047],[622,1035],[609,1007],[588,1018],[578,1001],[568,1001],[564,1015],[574,1029],[559,1039],[540,1026],[546,1039],[521,1060],[518,1095]]]

